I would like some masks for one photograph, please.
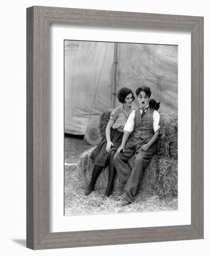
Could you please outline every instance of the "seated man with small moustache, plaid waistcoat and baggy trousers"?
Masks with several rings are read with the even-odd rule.
[[[120,206],[133,201],[144,169],[158,151],[157,138],[159,136],[160,115],[153,108],[149,108],[151,90],[146,86],[139,87],[136,94],[139,108],[131,112],[124,126],[121,146],[113,159],[119,180],[124,185],[122,198],[116,202]],[[133,137],[129,138],[132,131]],[[132,169],[130,169],[128,160],[134,154],[136,159]]]

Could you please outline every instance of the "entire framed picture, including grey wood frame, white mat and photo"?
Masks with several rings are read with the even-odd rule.
[[[118,148],[96,176],[95,154],[144,90],[159,151],[129,202],[117,164],[110,178]],[[27,247],[202,238],[203,17],[27,8]]]

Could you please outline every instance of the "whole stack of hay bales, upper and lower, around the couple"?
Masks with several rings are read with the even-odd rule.
[[[99,133],[101,136],[105,135],[105,129],[110,120],[112,109],[104,111],[99,120]],[[160,137],[159,137],[159,152],[154,155],[146,168],[139,189],[144,193],[151,195],[158,195],[160,198],[166,199],[177,196],[177,115],[168,114],[160,111]],[[78,163],[78,181],[80,185],[85,188],[90,180],[93,169],[93,164],[89,158],[90,148],[85,151],[79,159]],[[135,157],[131,157],[129,164],[132,167]],[[105,168],[99,175],[95,184],[95,189],[105,189],[108,182],[108,167]],[[114,188],[122,190],[123,186],[118,180],[118,175],[115,179]]]

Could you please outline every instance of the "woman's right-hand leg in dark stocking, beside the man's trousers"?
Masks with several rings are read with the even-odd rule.
[[[107,183],[107,188],[104,192],[104,195],[109,197],[112,194],[112,189],[114,185],[114,178],[116,175],[116,168],[113,165],[113,157],[115,155],[116,151],[111,151],[110,156],[109,156],[109,176],[108,176],[108,183]]]

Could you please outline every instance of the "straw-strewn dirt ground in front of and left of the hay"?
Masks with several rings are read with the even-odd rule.
[[[121,196],[121,191],[113,191],[108,198],[104,196],[104,189],[85,196],[84,188],[77,178],[78,159],[85,150],[92,147],[84,141],[83,136],[65,136],[65,216],[177,210],[176,197],[161,200],[156,195],[149,196],[139,192],[135,196],[135,202],[120,207],[116,205],[116,201]]]

